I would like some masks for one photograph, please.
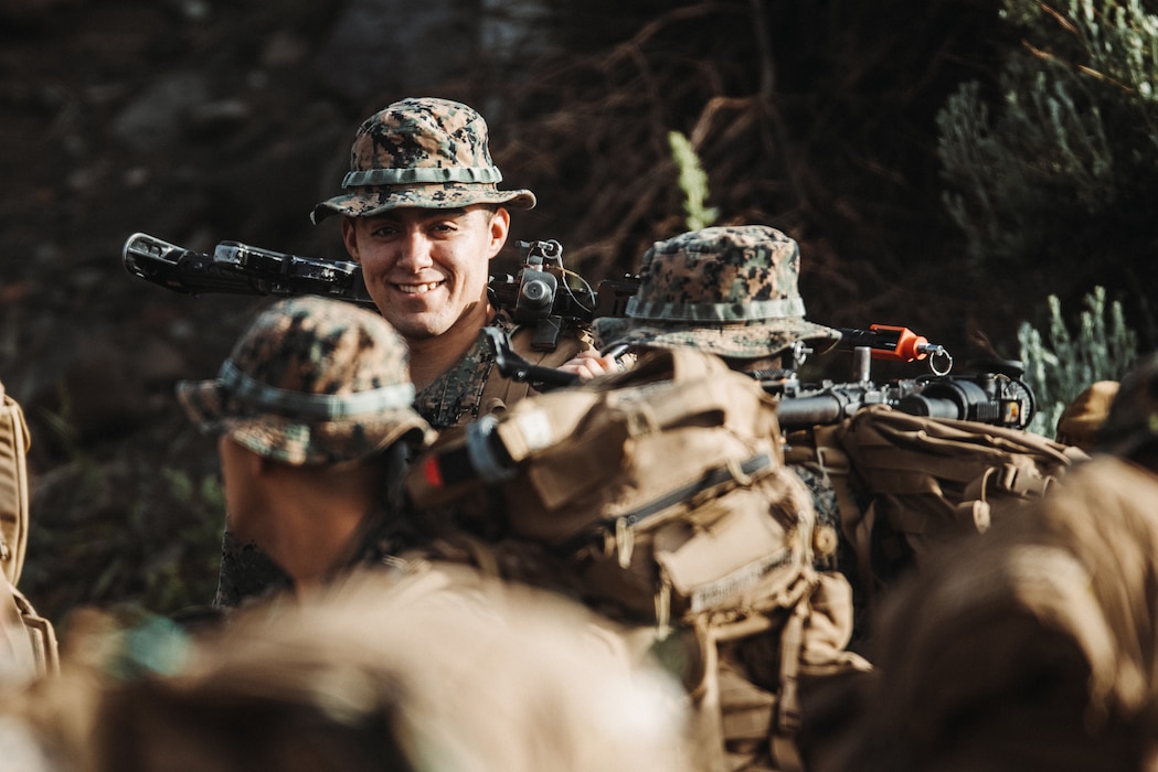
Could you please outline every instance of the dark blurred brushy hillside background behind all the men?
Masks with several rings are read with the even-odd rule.
[[[168,293],[130,278],[120,247],[145,230],[344,257],[307,214],[357,125],[402,96],[477,106],[505,184],[538,194],[512,243],[557,238],[593,282],[692,214],[762,222],[800,242],[814,321],[907,325],[959,367],[1039,352],[1051,404],[1120,376],[1134,352],[1089,350],[1121,340],[1054,333],[1086,308],[1156,345],[1153,6],[2,0],[0,378],[34,432],[23,589],[53,618],[211,600],[215,457],[173,384],[214,373],[267,299]],[[819,365],[848,375],[842,354]]]

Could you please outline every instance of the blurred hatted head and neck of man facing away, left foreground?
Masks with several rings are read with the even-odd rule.
[[[389,552],[400,476],[431,436],[413,395],[390,324],[322,297],[269,307],[217,377],[177,387],[189,418],[218,438],[229,530],[299,594]]]

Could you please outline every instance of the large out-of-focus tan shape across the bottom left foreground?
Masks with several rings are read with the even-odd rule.
[[[557,596],[428,566],[270,610],[179,647],[109,638],[0,706],[0,750],[25,772],[690,772],[679,688]],[[163,671],[124,667],[166,646]]]

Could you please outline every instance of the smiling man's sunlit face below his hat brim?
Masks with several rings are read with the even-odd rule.
[[[486,324],[490,260],[510,223],[504,208],[405,207],[346,218],[342,235],[382,316],[408,340],[423,340]]]

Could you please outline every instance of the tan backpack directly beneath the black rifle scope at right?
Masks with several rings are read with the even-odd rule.
[[[886,405],[815,434],[871,604],[931,549],[1016,516],[1089,458],[1021,429]]]

